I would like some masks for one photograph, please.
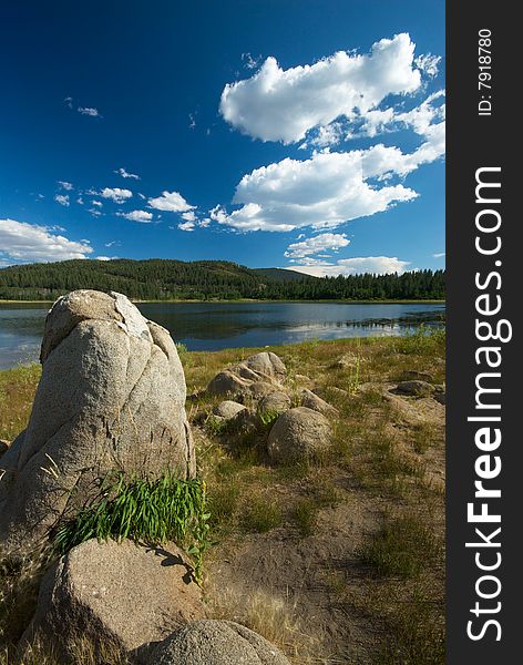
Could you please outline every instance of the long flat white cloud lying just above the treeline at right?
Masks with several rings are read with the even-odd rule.
[[[408,260],[401,260],[396,256],[357,256],[353,258],[341,258],[335,264],[310,259],[301,262],[300,265],[293,266],[290,269],[314,275],[315,277],[336,277],[338,275],[357,275],[363,273],[375,273],[377,275],[387,275],[391,273],[404,273]]]

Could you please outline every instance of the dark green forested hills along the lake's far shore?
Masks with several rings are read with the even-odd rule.
[[[0,269],[0,299],[53,300],[79,288],[115,290],[136,300],[440,299],[444,272],[310,277],[225,260],[78,259]]]

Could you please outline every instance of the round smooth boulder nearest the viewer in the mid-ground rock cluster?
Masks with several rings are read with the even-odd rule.
[[[267,439],[267,451],[274,462],[306,461],[328,449],[332,429],[322,413],[298,407],[283,413]]]

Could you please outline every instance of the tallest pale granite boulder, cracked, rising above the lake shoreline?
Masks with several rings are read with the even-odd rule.
[[[53,305],[28,428],[2,457],[0,550],[27,551],[111,470],[195,473],[185,378],[167,330],[121,294]]]

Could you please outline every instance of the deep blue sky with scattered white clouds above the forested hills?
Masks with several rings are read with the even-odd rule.
[[[0,9],[0,266],[444,265],[444,2]]]

